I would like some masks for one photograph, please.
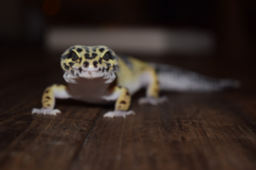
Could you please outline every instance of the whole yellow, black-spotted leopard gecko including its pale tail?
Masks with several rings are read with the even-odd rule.
[[[56,98],[72,98],[87,103],[113,103],[115,110],[104,117],[125,117],[135,114],[129,110],[131,95],[146,88],[146,97],[139,104],[157,105],[165,101],[159,98],[160,88],[177,91],[219,91],[237,87],[238,82],[200,76],[174,66],[147,63],[132,57],[117,56],[104,45],[74,45],[66,49],[61,58],[64,79],[67,85],[54,84],[46,88],[42,109],[32,113],[53,114]]]

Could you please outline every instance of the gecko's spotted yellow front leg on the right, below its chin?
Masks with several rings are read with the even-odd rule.
[[[103,117],[123,117],[127,115],[135,114],[133,110],[129,110],[131,105],[131,94],[129,91],[120,86],[114,88],[114,92],[110,96],[103,97],[106,100],[116,100],[115,110],[106,112]]]

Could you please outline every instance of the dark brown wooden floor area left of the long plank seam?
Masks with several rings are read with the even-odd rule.
[[[40,62],[41,61],[41,62]],[[0,169],[69,169],[99,114],[99,107],[57,100],[57,116],[31,115],[47,85],[64,82],[59,62],[14,62],[0,91]],[[45,67],[48,66],[48,67]],[[22,67],[28,68],[24,69]]]

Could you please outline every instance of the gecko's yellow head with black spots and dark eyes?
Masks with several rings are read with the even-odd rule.
[[[107,46],[74,45],[64,51],[61,66],[64,73],[72,78],[96,78],[115,73],[119,68],[119,60]]]

